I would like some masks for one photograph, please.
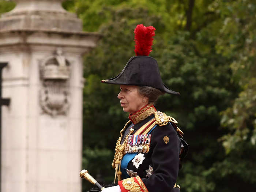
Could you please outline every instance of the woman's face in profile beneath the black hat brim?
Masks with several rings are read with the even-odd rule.
[[[134,85],[120,85],[117,98],[120,99],[124,112],[132,114],[148,104],[148,98],[140,94],[139,87]]]

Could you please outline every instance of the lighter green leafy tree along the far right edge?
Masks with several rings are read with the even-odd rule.
[[[255,145],[256,140],[256,4],[253,2],[231,1],[219,8],[223,38],[219,38],[217,50],[232,59],[232,80],[241,86],[233,106],[223,112],[222,125],[230,129],[230,134],[222,137],[227,153],[239,142]]]

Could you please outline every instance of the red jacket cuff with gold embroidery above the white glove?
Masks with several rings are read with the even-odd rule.
[[[148,192],[146,186],[139,176],[118,181],[121,192]]]

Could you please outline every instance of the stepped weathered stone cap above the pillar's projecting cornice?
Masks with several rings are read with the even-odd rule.
[[[16,0],[14,10],[2,14],[0,31],[82,31],[80,19],[61,7],[62,0]]]

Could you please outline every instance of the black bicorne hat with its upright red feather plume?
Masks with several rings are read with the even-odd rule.
[[[154,31],[155,28],[152,26],[145,27],[143,24],[137,25],[134,30],[136,56],[129,59],[119,75],[111,79],[101,80],[101,82],[109,84],[149,86],[165,93],[179,95],[180,93],[170,90],[163,84],[157,60],[148,56],[152,51],[151,46],[153,45]]]

